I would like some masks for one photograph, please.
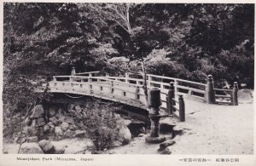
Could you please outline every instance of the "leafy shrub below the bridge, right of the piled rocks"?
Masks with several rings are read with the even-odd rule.
[[[85,106],[83,123],[90,129],[96,151],[103,151],[118,140],[117,118],[114,112],[119,109],[111,104],[100,105],[99,101],[88,102]]]

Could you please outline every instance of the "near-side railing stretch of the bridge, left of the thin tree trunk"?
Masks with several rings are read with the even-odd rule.
[[[55,92],[89,94],[98,98],[128,102],[131,106],[143,107],[146,103],[142,85],[107,77],[55,76],[49,87]]]

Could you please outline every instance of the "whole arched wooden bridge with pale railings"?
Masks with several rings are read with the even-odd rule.
[[[135,78],[132,73],[125,73],[125,77],[97,76],[99,72],[75,73],[70,76],[54,76],[53,81],[49,82],[49,92],[82,94],[94,96],[104,100],[113,100],[130,106],[146,109],[146,100],[143,92],[143,78]],[[168,100],[168,92],[174,85],[175,95],[172,100]],[[184,106],[179,106],[177,96],[183,94],[196,100],[203,100],[209,104],[228,104],[237,105],[237,84],[234,89],[214,89],[212,77],[208,78],[207,83],[196,83],[174,77],[162,77],[147,75],[147,86],[160,89],[161,110],[169,114],[174,114],[170,110],[177,112]],[[224,92],[220,95],[218,92]],[[169,94],[170,95],[170,94]],[[169,96],[170,97],[170,96]],[[221,101],[219,99],[227,99]],[[184,108],[183,108],[184,109]],[[184,111],[184,110],[183,110]],[[177,116],[178,117],[178,113]]]

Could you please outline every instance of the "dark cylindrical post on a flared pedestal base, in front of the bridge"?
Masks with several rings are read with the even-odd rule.
[[[151,122],[150,135],[145,138],[148,143],[160,143],[166,140],[166,137],[160,137],[160,89],[154,88],[148,90],[148,112]]]

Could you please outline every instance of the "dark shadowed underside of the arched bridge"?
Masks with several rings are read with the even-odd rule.
[[[118,114],[125,115],[126,117],[131,117],[143,121],[144,123],[150,123],[148,117],[148,111],[145,107],[131,106],[121,102],[121,100],[109,100],[104,97],[98,97],[97,95],[88,94],[77,94],[77,93],[57,93],[51,92],[53,96],[49,101],[49,104],[61,104],[67,105],[73,103],[75,105],[84,106],[89,102],[98,102],[100,105],[113,104],[113,106],[119,106],[120,109],[115,111]]]

